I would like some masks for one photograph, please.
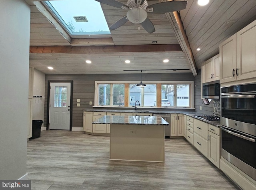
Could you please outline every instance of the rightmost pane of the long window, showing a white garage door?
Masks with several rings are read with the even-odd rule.
[[[177,84],[178,96],[180,98],[177,98],[177,107],[189,107],[189,84]]]

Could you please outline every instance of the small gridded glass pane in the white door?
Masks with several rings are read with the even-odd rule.
[[[66,108],[67,86],[55,86],[54,89],[54,107]]]

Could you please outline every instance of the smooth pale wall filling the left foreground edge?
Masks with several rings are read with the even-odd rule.
[[[30,7],[0,0],[0,179],[26,175]]]

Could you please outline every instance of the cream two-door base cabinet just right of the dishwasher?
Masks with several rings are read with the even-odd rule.
[[[171,136],[184,135],[184,115],[171,114]]]

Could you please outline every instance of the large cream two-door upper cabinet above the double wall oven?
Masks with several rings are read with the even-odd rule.
[[[220,83],[256,77],[256,20],[220,44]]]

